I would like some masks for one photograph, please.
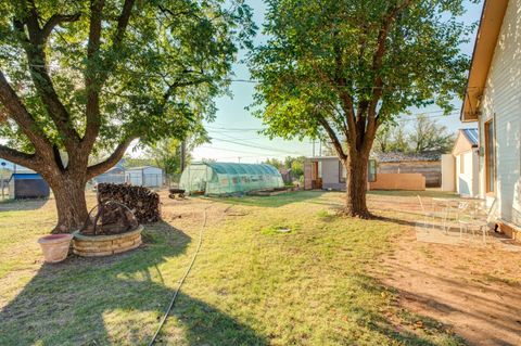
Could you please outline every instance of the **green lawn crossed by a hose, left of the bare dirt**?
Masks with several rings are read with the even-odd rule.
[[[52,227],[52,202],[0,204],[0,345],[147,344],[195,249],[203,207],[202,251],[160,344],[461,344],[398,309],[379,284],[379,257],[402,226],[336,217],[341,194],[173,203],[165,222],[147,227],[143,247],[59,265],[42,265],[36,244]]]

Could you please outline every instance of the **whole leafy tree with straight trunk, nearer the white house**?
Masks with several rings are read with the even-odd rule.
[[[267,42],[251,53],[266,133],[330,141],[347,171],[348,216],[370,217],[377,130],[409,107],[446,113],[465,88],[463,0],[267,0]]]

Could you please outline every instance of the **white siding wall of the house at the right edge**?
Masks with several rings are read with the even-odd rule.
[[[498,210],[504,220],[520,226],[521,0],[509,1],[480,108],[480,195],[486,196],[484,123],[494,118]]]

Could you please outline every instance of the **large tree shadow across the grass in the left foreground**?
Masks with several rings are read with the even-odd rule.
[[[186,253],[191,239],[158,222],[147,227],[144,240],[127,254],[43,265],[0,311],[0,345],[147,344],[180,279],[164,278],[158,266]],[[187,265],[186,258],[171,264],[179,277]],[[183,293],[166,323],[171,324],[176,344],[267,344],[249,326]],[[166,336],[160,338],[170,343]]]

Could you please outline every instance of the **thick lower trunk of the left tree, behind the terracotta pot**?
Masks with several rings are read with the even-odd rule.
[[[58,223],[53,233],[75,231],[84,226],[87,217],[87,202],[85,200],[85,176],[69,176],[47,178],[58,209]]]

